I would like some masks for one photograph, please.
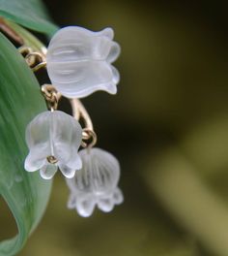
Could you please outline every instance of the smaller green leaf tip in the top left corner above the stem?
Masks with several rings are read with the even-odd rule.
[[[0,16],[27,28],[53,35],[58,27],[49,17],[40,0],[0,0]]]

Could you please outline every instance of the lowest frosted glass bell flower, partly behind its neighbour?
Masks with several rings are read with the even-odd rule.
[[[120,177],[118,160],[100,148],[83,149],[79,155],[82,169],[73,178],[67,179],[71,190],[68,207],[88,217],[96,205],[104,212],[120,205],[124,198],[117,187]]]

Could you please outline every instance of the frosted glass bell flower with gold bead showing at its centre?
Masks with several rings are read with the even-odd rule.
[[[66,177],[81,169],[78,147],[82,140],[80,124],[65,112],[42,112],[27,126],[26,143],[30,149],[24,168],[40,170],[43,178],[55,175],[58,168]]]

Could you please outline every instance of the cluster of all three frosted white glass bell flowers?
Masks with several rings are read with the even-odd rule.
[[[120,76],[112,63],[120,54],[120,47],[113,42],[113,36],[111,28],[100,32],[76,26],[60,29],[51,39],[45,56],[47,74],[55,91],[70,99],[98,90],[115,94]],[[96,206],[110,211],[123,202],[118,188],[118,160],[94,148],[94,144],[85,144],[83,140],[91,139],[94,131],[82,129],[75,116],[57,111],[52,96],[47,94],[45,98],[52,106],[51,111],[38,114],[27,126],[29,154],[25,170],[39,171],[44,179],[52,178],[60,170],[71,191],[68,206],[81,216],[90,216]],[[86,136],[85,131],[89,131]],[[78,152],[80,145],[87,148]]]

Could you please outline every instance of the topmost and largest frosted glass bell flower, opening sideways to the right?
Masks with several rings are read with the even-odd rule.
[[[111,28],[93,32],[78,26],[60,29],[47,48],[48,76],[64,96],[82,98],[97,90],[117,92],[119,72],[111,65],[120,54]]]

